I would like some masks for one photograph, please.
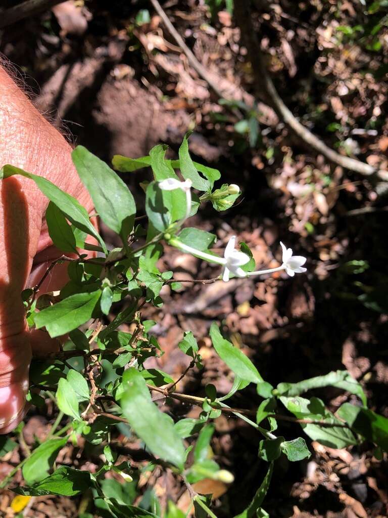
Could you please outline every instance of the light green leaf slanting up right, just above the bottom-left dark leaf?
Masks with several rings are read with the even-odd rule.
[[[23,478],[28,485],[40,482],[48,476],[57,452],[66,444],[67,437],[43,442],[32,452],[23,466]]]

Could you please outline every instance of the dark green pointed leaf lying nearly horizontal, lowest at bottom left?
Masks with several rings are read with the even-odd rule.
[[[26,496],[74,496],[86,493],[90,490],[91,485],[91,476],[88,471],[61,466],[41,482],[37,482],[31,487],[12,487],[12,491]]]

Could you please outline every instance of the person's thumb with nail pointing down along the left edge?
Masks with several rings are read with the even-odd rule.
[[[21,291],[41,227],[41,211],[27,203],[24,179],[0,182],[0,433],[24,417],[31,347]]]

